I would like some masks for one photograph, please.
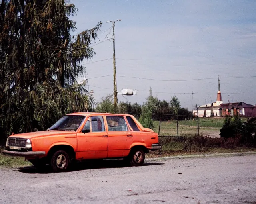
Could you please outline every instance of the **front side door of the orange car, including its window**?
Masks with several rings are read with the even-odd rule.
[[[91,116],[77,133],[78,159],[100,159],[108,155],[108,134],[102,116]]]

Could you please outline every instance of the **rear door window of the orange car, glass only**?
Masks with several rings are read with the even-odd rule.
[[[128,131],[123,116],[106,116],[108,131]]]

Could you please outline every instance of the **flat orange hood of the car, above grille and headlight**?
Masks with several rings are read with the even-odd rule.
[[[22,134],[15,134],[11,135],[10,137],[20,137],[20,138],[26,138],[31,139],[34,137],[44,137],[44,136],[54,136],[54,135],[68,135],[68,134],[74,134],[75,131],[57,131],[57,130],[49,130],[49,131],[38,131],[38,132],[28,132],[28,133],[22,133]]]

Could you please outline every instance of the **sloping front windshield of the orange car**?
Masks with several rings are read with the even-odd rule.
[[[76,131],[85,116],[63,116],[49,130]]]

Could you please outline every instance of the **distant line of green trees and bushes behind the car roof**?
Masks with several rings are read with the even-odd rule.
[[[94,111],[114,112],[112,95],[102,98],[102,101],[97,104]],[[173,96],[170,102],[160,100],[158,97],[152,96],[151,88],[144,104],[120,102],[118,104],[118,112],[134,115],[146,128],[153,128],[152,120],[189,120],[193,116],[188,108],[180,107],[180,102],[176,96]]]

